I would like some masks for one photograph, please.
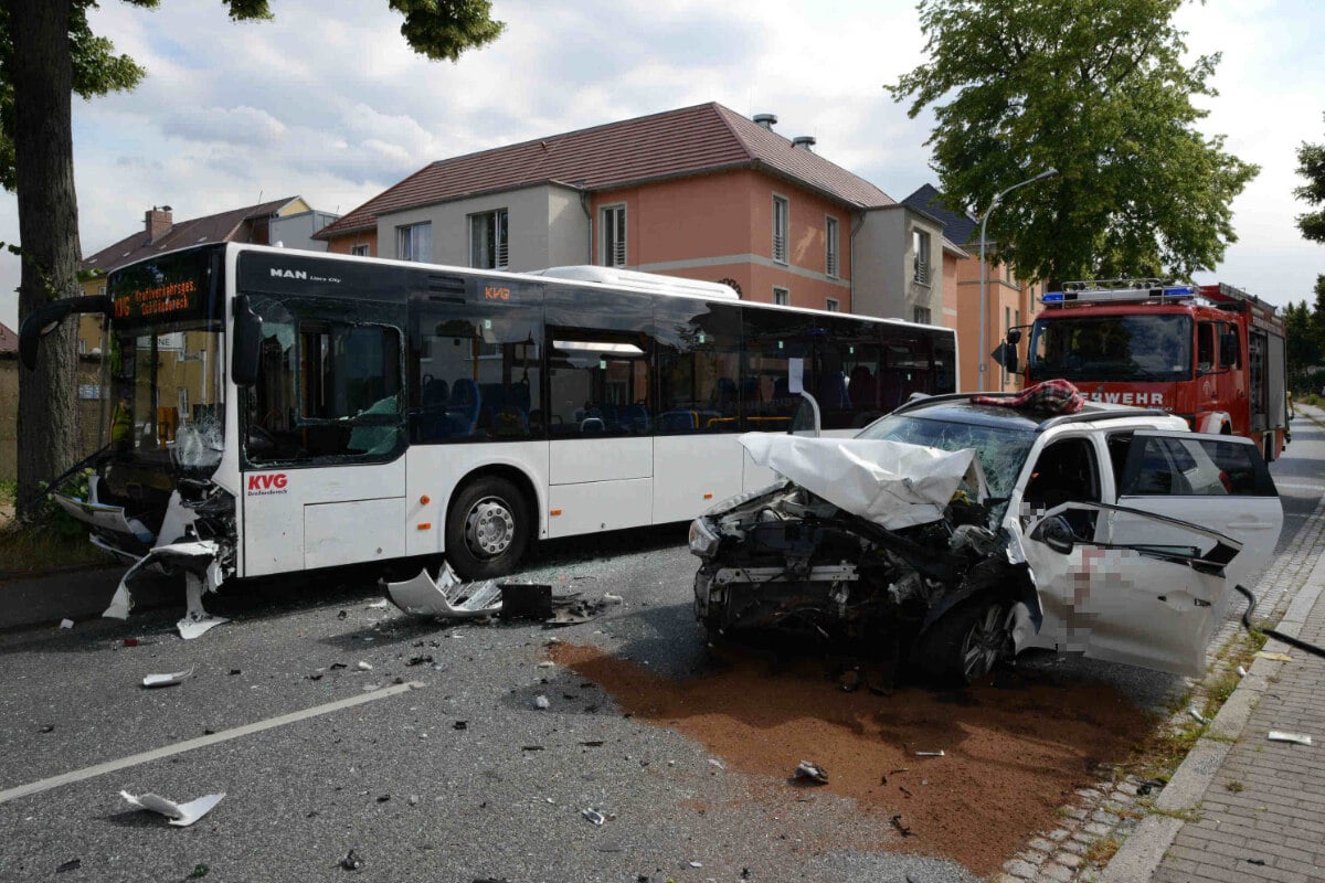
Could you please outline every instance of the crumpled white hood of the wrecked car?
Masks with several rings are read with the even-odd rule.
[[[739,441],[761,466],[890,531],[941,519],[963,482],[975,491],[971,502],[988,496],[971,449],[950,453],[876,438],[765,433],[746,433]]]

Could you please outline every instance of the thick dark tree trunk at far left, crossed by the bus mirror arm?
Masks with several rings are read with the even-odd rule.
[[[69,57],[70,0],[4,0],[13,41],[15,165],[23,277],[19,320],[78,294]],[[40,482],[78,458],[74,388],[77,320],[41,342],[36,371],[19,369],[19,512],[32,515]]]

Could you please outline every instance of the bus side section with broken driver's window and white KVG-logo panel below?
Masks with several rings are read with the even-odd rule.
[[[244,576],[403,556],[404,304],[249,301],[262,344],[241,398]]]

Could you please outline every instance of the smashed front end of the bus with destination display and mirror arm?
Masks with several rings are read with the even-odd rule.
[[[91,541],[132,564],[106,616],[132,606],[132,579],[152,569],[183,573],[184,637],[219,620],[203,609],[236,568],[238,469],[233,377],[227,371],[224,246],[142,261],[107,277],[106,297],[57,301],[24,322],[30,368],[38,339],[70,314],[103,314],[102,438],[86,465],[86,496],[54,494],[87,524]],[[241,324],[241,323],[240,323]],[[57,488],[60,490],[60,488]]]

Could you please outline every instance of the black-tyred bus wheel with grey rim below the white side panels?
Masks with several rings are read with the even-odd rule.
[[[447,557],[466,581],[510,573],[529,545],[529,502],[505,478],[461,488],[447,520]]]

